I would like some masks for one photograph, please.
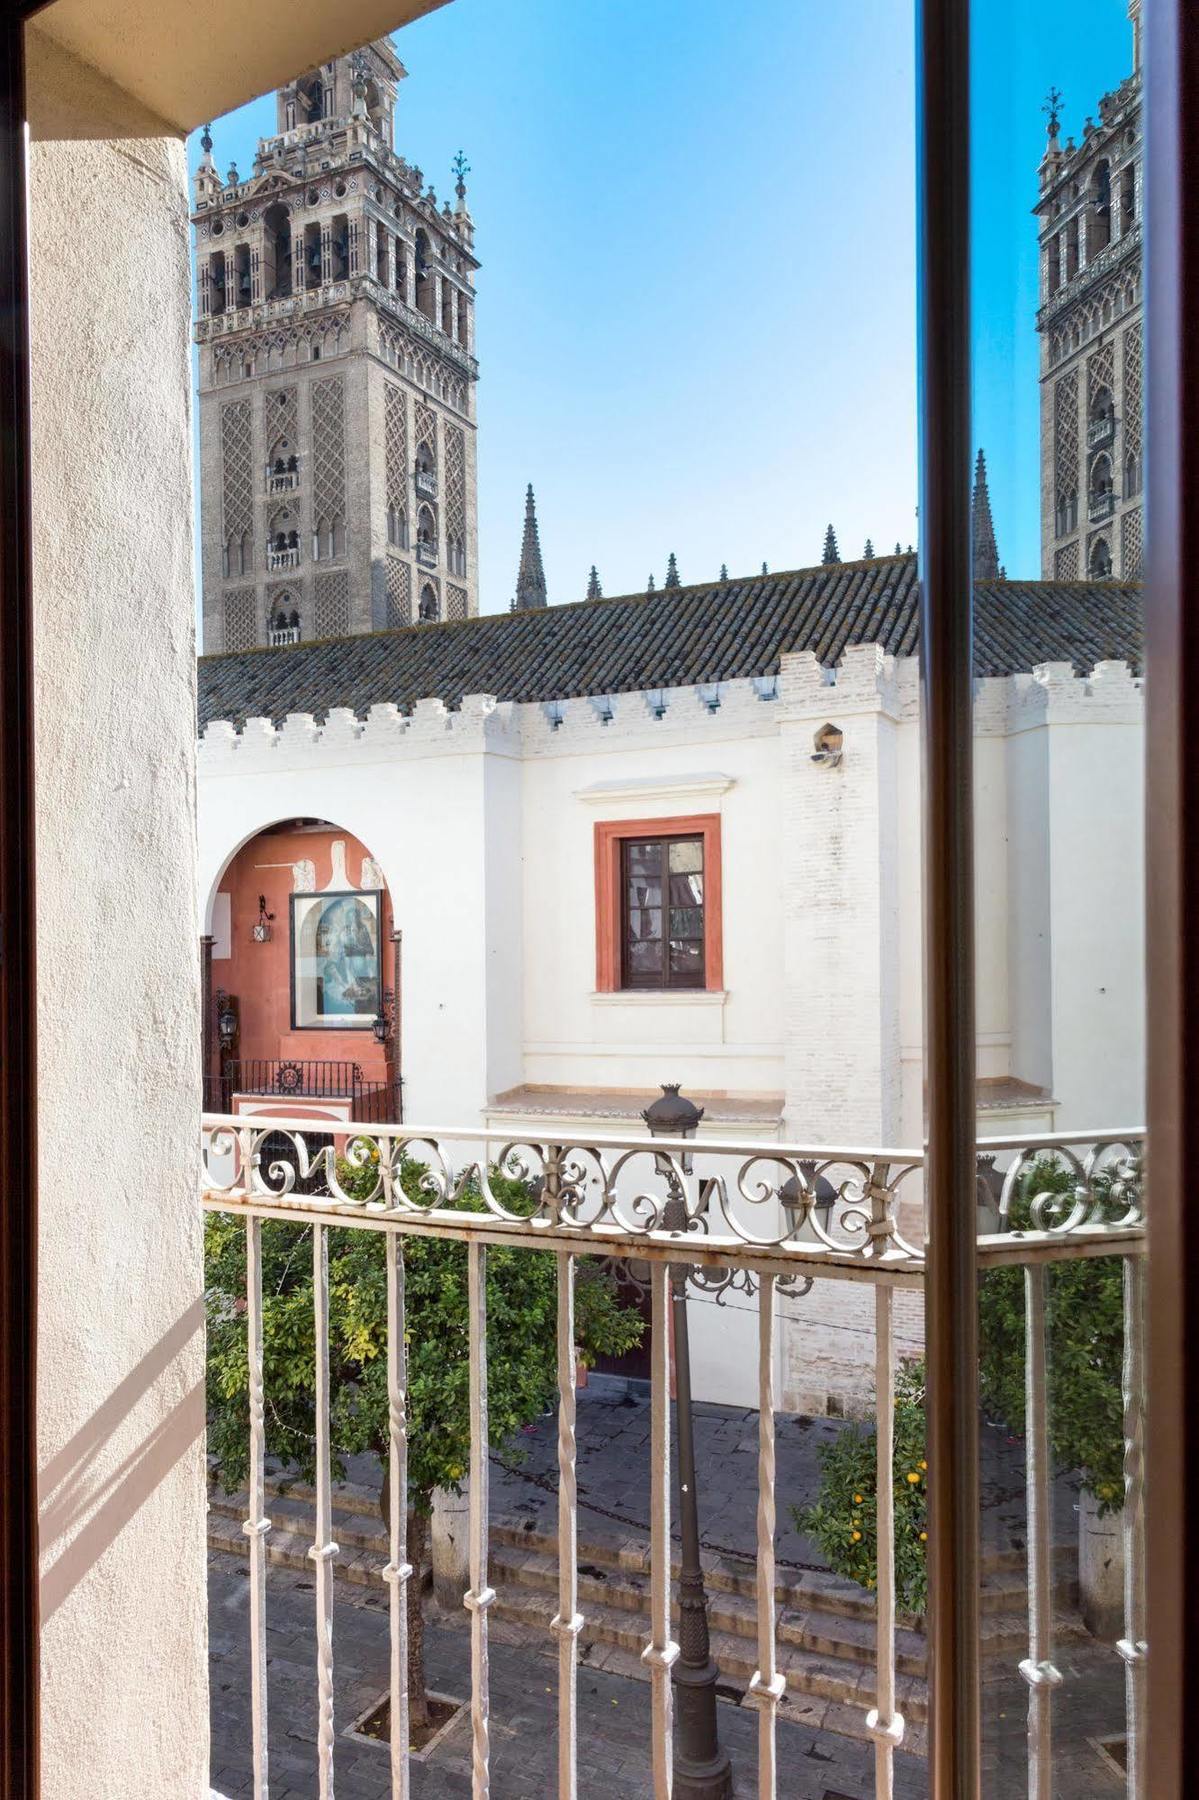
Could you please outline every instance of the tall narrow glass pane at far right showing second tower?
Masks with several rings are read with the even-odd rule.
[[[1005,1566],[1024,1591],[1015,1642],[979,1645],[996,1795],[1145,1793],[1125,1708],[1143,1674],[1116,1652],[1145,1631],[1123,1582],[1125,1553],[1131,1577],[1143,1557],[1141,1256],[1120,1240],[1084,1256],[1096,1244],[1080,1238],[1140,1188],[1140,1134],[1104,1134],[1143,1118],[1143,110],[1127,14],[970,5],[978,1231],[1057,1238],[1050,1264],[979,1271],[983,1593]],[[1021,716],[996,729],[1015,695]]]

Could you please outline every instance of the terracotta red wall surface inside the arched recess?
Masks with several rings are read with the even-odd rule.
[[[362,886],[362,859],[369,855],[349,832],[263,832],[245,844],[225,869],[220,891],[229,895],[230,956],[212,959],[212,986],[238,997],[241,1015],[241,1058],[270,1057],[313,1062],[333,1058],[356,1062],[365,1080],[385,1080],[383,1046],[367,1030],[293,1031],[292,1030],[292,862],[308,859],[317,866],[317,889],[333,877],[333,842],[346,844],[346,873]],[[270,864],[284,864],[270,868]],[[274,913],[270,943],[254,943],[250,927],[257,922],[257,896],[266,895]],[[391,898],[383,893],[383,986],[391,986]]]

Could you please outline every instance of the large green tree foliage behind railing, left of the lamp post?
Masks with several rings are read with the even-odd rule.
[[[401,1168],[409,1195],[423,1197],[427,1170]],[[491,1188],[513,1211],[533,1211],[527,1188],[491,1172]],[[374,1186],[362,1166],[338,1161],[347,1193]],[[457,1202],[482,1211],[477,1188]],[[387,1267],[382,1231],[329,1229],[329,1413],[335,1472],[360,1451],[387,1454]],[[295,1476],[315,1472],[315,1337],[311,1226],[263,1222],[263,1368],[266,1451]],[[409,1352],[409,1498],[428,1512],[436,1487],[457,1489],[470,1462],[470,1332],[466,1246],[407,1235],[405,1321]],[[544,1413],[556,1395],[556,1258],[545,1251],[488,1249],[490,1442],[499,1447]],[[209,1319],[209,1449],[227,1490],[248,1469],[248,1368],[245,1337],[245,1222],[205,1219]],[[621,1307],[607,1271],[576,1264],[576,1337],[583,1357],[621,1355],[641,1337],[641,1318]]]

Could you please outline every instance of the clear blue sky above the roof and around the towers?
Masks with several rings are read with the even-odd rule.
[[[1125,0],[976,4],[976,439],[1001,556],[1039,574],[1041,103],[1131,67]],[[405,27],[396,148],[472,164],[482,610],[524,484],[551,599],[916,535],[907,0],[454,0]],[[221,171],[274,97],[214,124]],[[191,142],[193,166],[198,158]]]

